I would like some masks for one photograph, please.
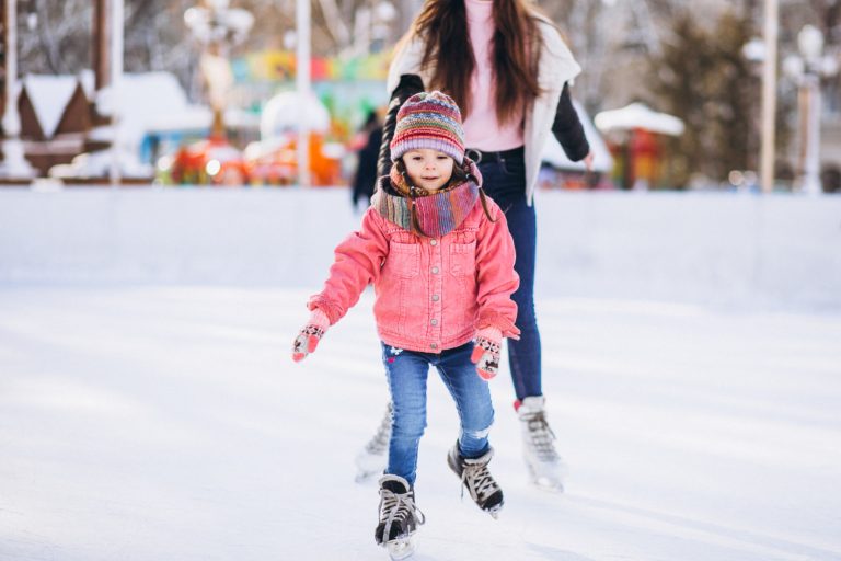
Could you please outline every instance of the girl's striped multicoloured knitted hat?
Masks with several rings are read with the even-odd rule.
[[[394,138],[391,139],[391,161],[418,148],[443,152],[459,165],[463,162],[461,111],[446,93],[416,93],[400,107]]]

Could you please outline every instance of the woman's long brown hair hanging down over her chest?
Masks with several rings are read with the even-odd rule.
[[[496,117],[506,123],[540,95],[538,68],[542,35],[537,10],[528,0],[492,0],[493,76],[496,85]],[[476,67],[470,44],[464,0],[426,0],[406,36],[425,42],[422,67],[431,65],[427,89],[441,90],[470,114],[470,79]]]

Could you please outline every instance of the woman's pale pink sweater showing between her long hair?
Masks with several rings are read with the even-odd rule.
[[[464,0],[476,69],[471,78],[470,114],[464,119],[464,145],[496,152],[523,145],[522,114],[505,126],[496,119],[493,76],[493,0]]]

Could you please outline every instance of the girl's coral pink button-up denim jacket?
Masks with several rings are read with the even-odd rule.
[[[440,353],[485,327],[517,337],[514,241],[505,214],[489,198],[487,206],[495,222],[477,199],[464,221],[441,238],[415,236],[368,208],[359,231],[336,248],[324,289],[308,307],[321,309],[332,325],[373,283],[377,331],[388,345]]]

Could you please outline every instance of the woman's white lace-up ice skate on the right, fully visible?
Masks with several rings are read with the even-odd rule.
[[[546,422],[544,402],[543,396],[535,396],[516,405],[521,423],[522,456],[534,485],[562,493],[563,462],[555,451],[555,434]]]

